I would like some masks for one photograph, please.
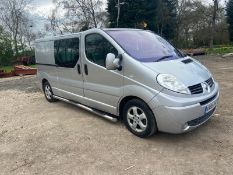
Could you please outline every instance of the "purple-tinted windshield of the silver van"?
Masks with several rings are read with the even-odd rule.
[[[162,37],[144,30],[106,31],[130,56],[141,62],[175,60],[184,55]]]

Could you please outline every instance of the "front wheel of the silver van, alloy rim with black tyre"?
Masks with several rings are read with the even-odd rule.
[[[146,138],[157,132],[154,114],[141,100],[133,99],[125,104],[123,120],[127,129],[138,137]]]

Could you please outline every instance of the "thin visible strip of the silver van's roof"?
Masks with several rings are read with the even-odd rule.
[[[102,31],[126,31],[126,30],[132,30],[132,31],[138,31],[138,30],[142,30],[142,29],[133,29],[133,28],[103,28],[103,29],[97,29],[97,28],[93,28],[93,29],[89,29],[86,31],[90,31],[90,30],[102,30]],[[70,33],[70,34],[64,34],[64,35],[57,35],[57,36],[49,36],[49,37],[44,37],[44,38],[40,38],[37,39],[35,42],[43,42],[43,41],[52,41],[52,40],[57,40],[57,39],[61,39],[61,38],[69,38],[75,35],[79,35],[81,33],[85,33],[86,31],[83,32],[78,32],[78,33]]]

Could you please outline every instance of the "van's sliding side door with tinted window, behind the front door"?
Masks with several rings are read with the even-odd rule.
[[[54,41],[58,90],[62,97],[82,102],[83,76],[80,59],[80,35]]]

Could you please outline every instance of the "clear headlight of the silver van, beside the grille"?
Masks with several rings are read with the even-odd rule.
[[[157,76],[157,81],[161,86],[169,90],[179,92],[182,94],[191,94],[189,89],[182,82],[178,81],[175,76],[171,74],[159,74]]]

